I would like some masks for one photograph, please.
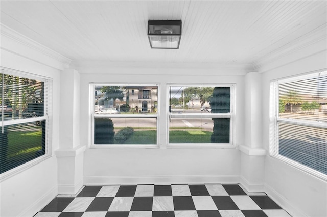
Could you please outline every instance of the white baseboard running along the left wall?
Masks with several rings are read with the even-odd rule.
[[[52,201],[58,193],[57,186],[53,187],[50,191],[46,192],[43,197],[40,197],[37,201],[35,201],[29,208],[22,211],[19,215],[21,217],[26,216],[34,216],[37,212],[39,212],[46,204]]]

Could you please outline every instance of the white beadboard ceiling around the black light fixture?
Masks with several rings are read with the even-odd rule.
[[[1,1],[1,23],[72,61],[256,65],[327,37],[327,1]],[[182,20],[151,49],[148,20]]]

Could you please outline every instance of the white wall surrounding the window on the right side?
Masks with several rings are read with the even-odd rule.
[[[269,82],[272,79],[327,68],[326,40],[272,62],[261,70],[263,144],[269,150]],[[300,55],[300,56],[299,56]],[[296,60],[295,60],[296,57]],[[293,216],[327,216],[327,182],[270,156],[265,161],[266,193]]]

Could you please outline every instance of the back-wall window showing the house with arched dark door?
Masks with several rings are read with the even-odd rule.
[[[157,85],[90,84],[91,147],[157,146]],[[135,92],[135,95],[133,94]]]

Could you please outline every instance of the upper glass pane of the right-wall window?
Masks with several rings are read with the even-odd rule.
[[[327,123],[327,76],[279,84],[279,117]]]

